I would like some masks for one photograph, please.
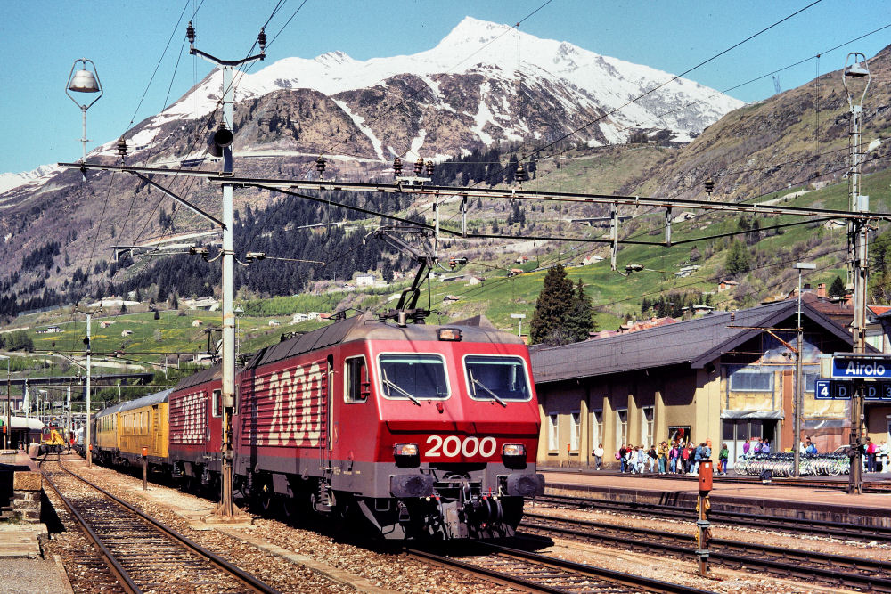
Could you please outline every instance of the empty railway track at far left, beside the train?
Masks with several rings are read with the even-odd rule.
[[[278,591],[74,474],[61,461],[44,460],[41,470],[125,591]]]

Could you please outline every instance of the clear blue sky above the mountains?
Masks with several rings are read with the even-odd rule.
[[[284,0],[266,28],[267,61],[313,58],[334,50],[359,60],[417,53],[437,45],[464,16],[515,24],[540,8],[523,20],[521,30],[680,73],[812,1],[307,0],[285,26],[302,0]],[[196,45],[222,58],[238,58],[248,51],[278,3],[7,0],[0,20],[7,83],[0,98],[7,147],[0,151],[0,173],[79,158],[80,113],[64,93],[78,58],[96,63],[105,88],[87,115],[92,150],[118,138],[131,119],[138,123],[176,101],[207,75],[210,64],[188,55],[188,45],[183,45],[185,21],[196,8],[200,6],[194,19]],[[880,0],[822,0],[687,77],[723,91],[822,53],[819,62],[806,60],[778,75],[784,90],[802,85],[818,71],[840,69],[848,52],[871,57],[891,44],[891,28],[886,28],[828,52],[891,24],[887,6]],[[186,16],[176,27],[184,11]],[[168,40],[168,52],[161,59]],[[729,94],[750,102],[773,93],[772,77],[765,77]]]

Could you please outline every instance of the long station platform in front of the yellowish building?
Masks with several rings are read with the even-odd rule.
[[[544,473],[545,494],[576,495],[598,500],[637,501],[693,507],[698,484],[688,477],[619,474],[615,470],[578,471],[539,468]],[[712,509],[765,516],[799,517],[856,525],[891,526],[891,491],[849,495],[838,488],[793,484],[761,484],[723,481],[715,476],[709,495]],[[882,476],[882,479],[885,479]],[[875,480],[875,479],[874,479]],[[883,481],[884,482],[884,481]]]

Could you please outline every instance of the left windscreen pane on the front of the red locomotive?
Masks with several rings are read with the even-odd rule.
[[[383,395],[411,400],[448,398],[446,362],[438,354],[385,353],[378,358]]]

